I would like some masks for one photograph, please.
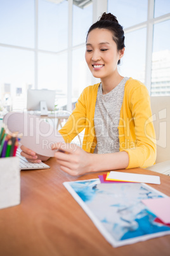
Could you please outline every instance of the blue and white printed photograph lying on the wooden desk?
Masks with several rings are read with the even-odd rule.
[[[142,203],[167,196],[144,183],[93,179],[63,185],[114,247],[170,234],[170,225],[157,222],[157,216]]]

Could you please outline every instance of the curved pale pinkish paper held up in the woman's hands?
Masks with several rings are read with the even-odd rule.
[[[36,115],[27,112],[10,112],[4,116],[4,124],[10,132],[18,132],[20,143],[39,155],[54,157],[53,143],[64,142],[55,127]]]

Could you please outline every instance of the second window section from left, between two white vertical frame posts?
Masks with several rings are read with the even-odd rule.
[[[56,90],[58,108],[67,105],[68,1],[38,1],[38,89]]]

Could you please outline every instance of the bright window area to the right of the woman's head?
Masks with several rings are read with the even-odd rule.
[[[117,17],[125,31],[121,75],[145,83],[152,96],[170,95],[170,1],[108,0],[108,12]],[[152,29],[148,27],[148,12],[153,13]],[[151,47],[147,29],[149,33],[153,31]]]

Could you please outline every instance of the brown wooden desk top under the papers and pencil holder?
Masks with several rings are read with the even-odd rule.
[[[77,178],[63,173],[55,159],[47,164],[51,169],[21,171],[21,204],[0,210],[1,256],[169,255],[170,236],[113,248],[62,184],[99,173]],[[140,168],[126,172],[158,175]],[[160,174],[160,181],[151,186],[170,196],[170,177]]]

